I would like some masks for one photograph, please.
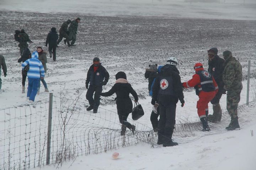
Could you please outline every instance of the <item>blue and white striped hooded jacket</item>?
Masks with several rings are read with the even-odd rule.
[[[22,70],[25,66],[29,65],[30,68],[27,73],[28,78],[39,79],[44,77],[44,67],[41,61],[38,60],[38,52],[34,51],[32,57],[22,63]]]

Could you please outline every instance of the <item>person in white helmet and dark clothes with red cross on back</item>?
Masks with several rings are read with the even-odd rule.
[[[176,68],[178,61],[175,57],[167,60],[167,64],[161,68],[161,72],[153,86],[151,104],[159,103],[160,119],[158,123],[158,145],[175,146],[172,141],[172,133],[175,125],[176,104],[178,100],[181,107],[184,106],[183,88],[179,71]]]

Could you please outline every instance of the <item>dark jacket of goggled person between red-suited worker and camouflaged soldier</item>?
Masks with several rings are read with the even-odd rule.
[[[212,61],[209,60],[208,65],[208,72],[213,75],[216,83],[218,84],[219,88],[223,88],[224,83],[222,79],[222,73],[224,70],[225,60],[220,58],[218,55],[215,55]]]

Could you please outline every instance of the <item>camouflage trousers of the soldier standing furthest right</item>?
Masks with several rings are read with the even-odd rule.
[[[241,89],[229,90],[227,92],[227,110],[231,118],[236,118],[238,116],[237,108],[240,101]]]

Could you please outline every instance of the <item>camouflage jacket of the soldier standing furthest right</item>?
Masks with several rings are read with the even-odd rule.
[[[242,89],[242,66],[235,57],[230,57],[225,61],[223,82],[224,89],[227,91]]]

